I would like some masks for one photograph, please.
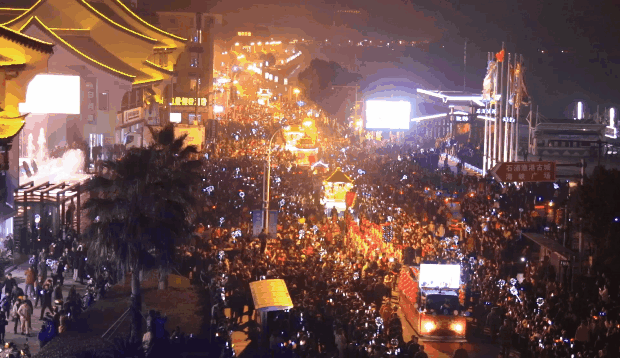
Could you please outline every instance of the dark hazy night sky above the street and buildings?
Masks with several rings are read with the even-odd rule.
[[[25,2],[34,1],[0,0],[0,5],[25,7]],[[329,24],[334,10],[359,8],[369,16],[352,30],[385,38],[431,38],[447,47],[441,56],[454,57],[447,59],[454,63],[462,62],[467,39],[468,67],[476,67],[468,72],[474,79],[484,72],[486,53],[499,51],[501,42],[506,41],[509,52],[522,53],[527,59],[531,94],[548,117],[561,116],[578,99],[593,108],[597,104],[619,105],[615,101],[620,98],[620,28],[616,25],[620,9],[613,1],[594,5],[584,0],[295,0],[274,5],[260,0],[141,0],[141,5],[147,12],[178,9],[220,13],[229,27],[260,19],[261,25],[315,37],[333,35]],[[541,55],[541,49],[547,55]],[[561,50],[571,53],[561,54]],[[601,50],[607,55],[598,54]],[[482,78],[479,82],[478,89]]]

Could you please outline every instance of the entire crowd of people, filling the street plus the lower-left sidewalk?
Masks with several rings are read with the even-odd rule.
[[[214,356],[234,356],[231,332],[247,325],[248,339],[267,356],[423,358],[424,346],[404,336],[392,299],[405,262],[460,264],[459,309],[472,313],[472,334],[497,342],[504,357],[618,356],[618,284],[598,274],[570,285],[549,257],[537,260],[522,235],[542,225],[530,188],[455,174],[438,163],[440,147],[421,148],[425,141],[324,140],[321,161],[355,182],[344,213],[321,204],[324,175],[317,168],[297,165],[275,145],[269,208],[278,211],[277,230],[259,234],[251,210],[262,207],[266,147],[278,127],[264,107],[244,111],[221,123],[207,150],[208,210],[181,247],[181,273],[209,298]],[[54,304],[63,299],[63,271],[74,270],[76,280],[99,277],[74,235],[51,240],[44,232],[46,247],[33,248],[42,254],[33,256],[24,292],[9,276],[4,281],[10,303],[9,316],[0,313],[0,336],[9,319],[15,332],[30,334],[39,303],[41,317],[51,311],[63,327],[67,310]],[[101,293],[115,276],[96,280]],[[267,322],[259,325],[250,283],[272,278],[286,282],[293,307],[261,317]]]

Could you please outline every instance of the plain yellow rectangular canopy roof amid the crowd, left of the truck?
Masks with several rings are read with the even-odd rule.
[[[263,312],[293,308],[293,301],[284,280],[261,280],[250,282],[254,307]]]

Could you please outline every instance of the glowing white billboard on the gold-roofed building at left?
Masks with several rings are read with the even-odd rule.
[[[36,75],[28,84],[21,113],[80,114],[80,77]]]

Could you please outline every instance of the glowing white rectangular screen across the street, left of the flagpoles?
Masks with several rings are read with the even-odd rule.
[[[366,101],[366,129],[409,130],[411,103],[407,101]]]

